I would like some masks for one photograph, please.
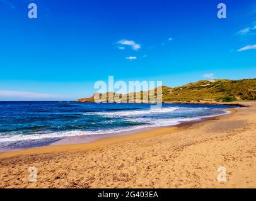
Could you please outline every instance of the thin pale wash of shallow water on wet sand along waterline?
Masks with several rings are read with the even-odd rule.
[[[233,108],[235,109],[235,108]],[[44,149],[44,148],[51,148],[51,147],[57,147],[57,146],[71,146],[71,145],[83,145],[83,144],[88,144],[88,143],[93,143],[100,141],[102,139],[111,139],[112,138],[122,138],[123,136],[134,136],[136,134],[144,134],[147,133],[148,131],[156,131],[157,129],[161,128],[182,128],[182,126],[185,126],[187,124],[193,124],[196,122],[202,122],[202,121],[208,121],[211,119],[214,119],[215,117],[219,116],[225,116],[230,113],[233,109],[220,109],[220,111],[223,111],[222,114],[216,114],[216,115],[209,115],[209,116],[198,116],[198,117],[192,117],[193,120],[188,120],[187,121],[177,121],[177,124],[173,125],[166,125],[166,126],[149,126],[149,127],[144,127],[144,128],[136,128],[136,129],[131,129],[127,131],[120,131],[120,132],[113,132],[113,133],[103,133],[103,134],[91,134],[91,135],[79,135],[79,136],[66,136],[61,139],[56,139],[54,143],[50,143],[49,145],[46,146],[33,146],[31,148],[19,148],[19,149],[11,149],[11,148],[6,148],[6,149],[1,149],[0,148],[0,158],[1,155],[4,155],[4,153],[19,153],[21,151],[26,151],[30,149]],[[147,138],[145,134],[145,138]],[[136,136],[135,136],[136,139]]]

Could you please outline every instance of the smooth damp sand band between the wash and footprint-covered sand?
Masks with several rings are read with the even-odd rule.
[[[240,107],[240,106],[239,106]],[[20,150],[10,150],[4,151],[0,153],[0,159],[2,158],[10,158],[21,155],[40,155],[40,154],[49,154],[49,153],[63,153],[66,151],[78,151],[78,150],[88,150],[100,148],[101,146],[108,146],[117,143],[124,143],[126,141],[136,141],[144,138],[152,138],[154,136],[160,136],[163,134],[172,134],[178,131],[178,129],[189,128],[193,124],[199,123],[207,123],[207,121],[219,120],[228,115],[232,115],[236,112],[236,108],[233,109],[221,109],[222,111],[226,111],[225,114],[219,114],[211,117],[201,117],[200,120],[196,121],[188,121],[188,122],[180,122],[180,124],[173,126],[162,126],[162,127],[152,127],[149,129],[138,129],[137,131],[131,131],[131,133],[121,134],[120,136],[109,135],[103,138],[99,138],[89,142],[83,143],[74,143],[74,144],[50,144],[49,146],[40,146],[34,148],[20,149]],[[250,107],[245,106],[243,107]],[[73,138],[73,137],[71,137]],[[64,138],[65,139],[65,138]]]

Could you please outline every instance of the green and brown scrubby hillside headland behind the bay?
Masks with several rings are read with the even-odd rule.
[[[152,95],[156,97],[156,89],[153,89]],[[143,94],[141,93],[141,102],[143,102]],[[133,93],[134,97],[137,93]],[[120,97],[119,102],[129,100],[129,94],[121,95],[111,93]],[[168,101],[218,101],[218,102],[232,102],[242,100],[256,100],[256,79],[243,80],[200,80],[198,82],[189,83],[181,87],[162,87],[162,100]],[[100,94],[102,97],[103,94]],[[122,98],[121,98],[122,96]],[[106,94],[107,101],[109,100]],[[111,98],[110,98],[111,99]],[[88,99],[79,99],[79,102],[91,102],[93,97]],[[116,99],[115,99],[116,100]],[[130,99],[131,100],[131,99]],[[134,100],[134,98],[133,98]]]

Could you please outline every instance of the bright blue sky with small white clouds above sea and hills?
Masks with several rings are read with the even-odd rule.
[[[0,100],[76,100],[110,75],[171,87],[256,77],[253,0],[0,0],[0,23]]]

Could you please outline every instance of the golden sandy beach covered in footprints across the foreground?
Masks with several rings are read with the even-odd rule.
[[[256,106],[202,122],[0,154],[0,188],[256,188]],[[28,182],[28,168],[37,182]],[[226,182],[218,182],[218,168]]]

